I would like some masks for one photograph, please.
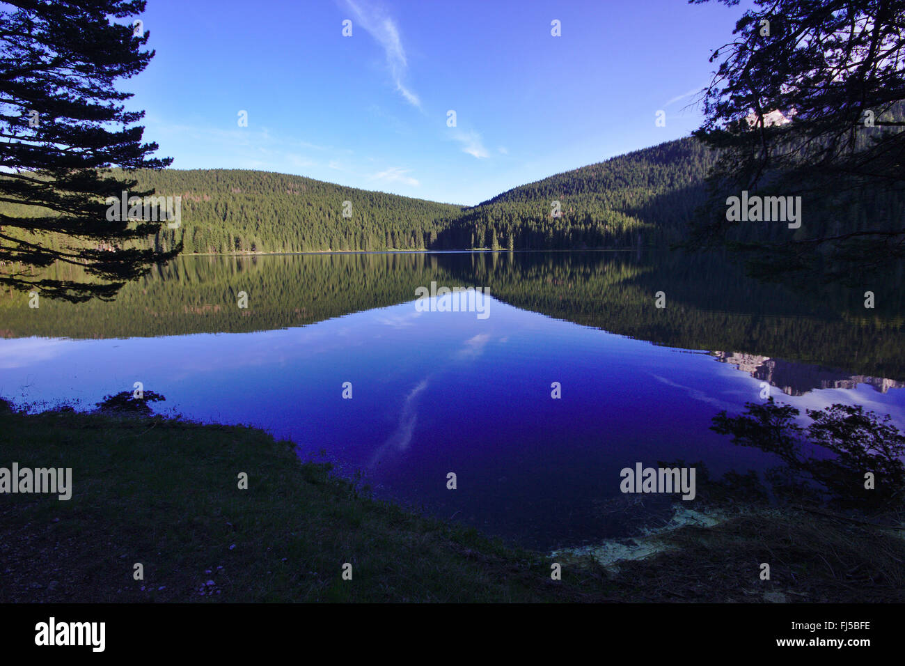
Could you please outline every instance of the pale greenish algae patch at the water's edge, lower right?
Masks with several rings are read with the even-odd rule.
[[[600,544],[582,545],[576,548],[563,548],[553,551],[551,557],[586,557],[591,556],[603,566],[617,568],[616,565],[625,560],[642,560],[645,557],[674,550],[675,546],[667,543],[664,536],[684,526],[712,527],[719,525],[729,516],[720,511],[706,513],[677,505],[669,522],[660,527],[642,528],[640,536],[620,539],[607,539]]]

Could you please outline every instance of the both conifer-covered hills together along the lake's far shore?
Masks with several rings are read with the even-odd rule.
[[[181,197],[180,227],[161,227],[143,245],[169,249],[181,238],[186,254],[611,248],[635,245],[639,236],[645,245],[679,239],[703,201],[712,161],[697,140],[675,140],[510,189],[473,208],[248,169],[129,175],[139,190]],[[0,213],[29,215],[3,203]]]

